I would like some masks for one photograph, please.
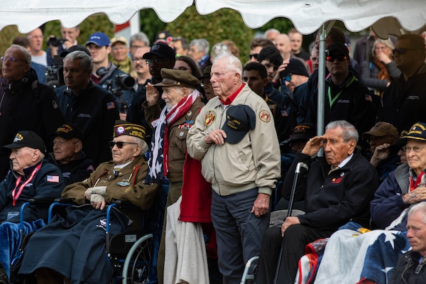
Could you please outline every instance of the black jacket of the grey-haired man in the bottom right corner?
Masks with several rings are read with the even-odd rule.
[[[423,284],[426,283],[426,258],[419,263],[420,253],[408,251],[398,259],[391,272],[388,283],[392,284]],[[418,273],[416,270],[419,269]]]

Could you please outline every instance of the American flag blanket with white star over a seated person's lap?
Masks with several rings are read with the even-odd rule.
[[[399,256],[410,249],[405,234],[349,222],[329,238],[315,283],[388,283]]]

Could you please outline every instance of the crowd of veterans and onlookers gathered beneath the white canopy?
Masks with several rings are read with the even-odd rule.
[[[342,281],[344,267],[331,258],[346,244],[344,230],[357,235],[361,226],[402,240],[395,253],[375,254],[388,263],[387,283],[425,279],[421,35],[383,40],[371,30],[351,56],[347,35],[333,27],[321,110],[319,35],[304,50],[295,28],[268,30],[243,62],[228,39],[210,48],[167,31],[152,44],[145,33],[94,31],[84,44],[79,35],[78,26],[61,27],[44,51],[36,28],[0,58],[0,234],[8,242],[0,263],[9,278],[23,202],[62,197],[76,206],[49,224],[35,205],[23,212],[35,233],[16,275],[108,283],[107,206],[125,200],[149,211],[168,185],[149,283],[240,283],[253,256],[256,283],[312,283],[302,280],[300,259],[318,239],[326,241],[322,266],[312,268],[317,279]],[[315,128],[319,116],[324,129]],[[289,200],[302,214],[272,222]],[[111,218],[112,235],[141,224],[135,212]],[[368,234],[351,244],[363,260],[351,279],[391,281],[364,271],[372,253],[359,240],[381,236]]]

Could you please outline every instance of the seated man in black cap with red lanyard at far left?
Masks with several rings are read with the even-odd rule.
[[[0,262],[9,276],[11,260],[21,245],[19,224],[16,224],[21,205],[31,198],[54,200],[60,197],[65,184],[60,170],[44,159],[46,146],[33,131],[19,131],[13,143],[3,147],[11,151],[11,170],[0,183]],[[47,217],[47,208],[25,207],[24,234],[39,229],[44,225],[40,219]]]

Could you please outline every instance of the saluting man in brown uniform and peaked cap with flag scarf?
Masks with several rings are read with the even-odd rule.
[[[167,177],[169,191],[166,207],[178,201],[182,189],[183,163],[187,152],[187,133],[195,118],[204,107],[201,94],[197,91],[200,80],[184,70],[163,68],[162,82],[146,86],[145,109],[146,120],[153,126],[151,159],[146,180],[161,183]],[[155,87],[162,87],[161,98],[165,107],[161,109],[159,92]],[[158,280],[163,283],[164,236],[158,251]]]

